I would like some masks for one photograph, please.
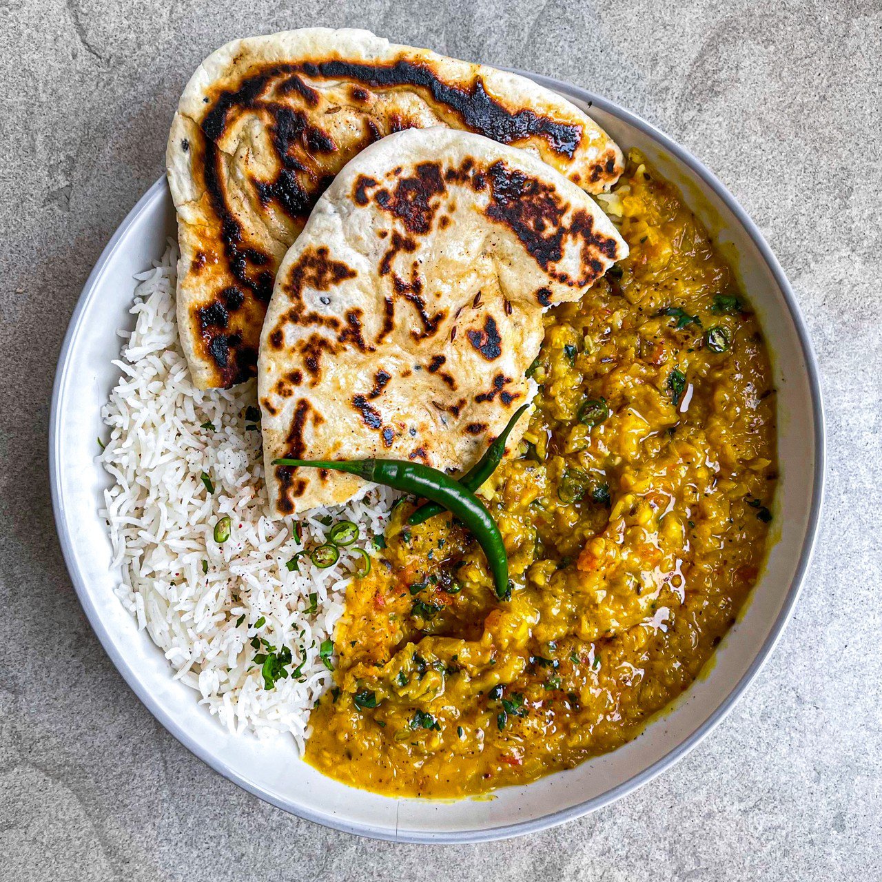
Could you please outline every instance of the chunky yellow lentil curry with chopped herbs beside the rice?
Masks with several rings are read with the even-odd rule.
[[[639,154],[601,198],[630,256],[546,314],[534,414],[482,490],[511,599],[449,514],[393,510],[310,718],[306,759],[333,778],[453,797],[610,751],[699,675],[757,579],[774,388],[749,300]]]

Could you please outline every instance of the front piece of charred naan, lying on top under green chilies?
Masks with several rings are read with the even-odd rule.
[[[364,486],[273,467],[277,457],[472,466],[532,395],[542,312],[626,254],[594,200],[522,150],[436,128],[359,153],[282,261],[266,314],[258,397],[273,514]]]

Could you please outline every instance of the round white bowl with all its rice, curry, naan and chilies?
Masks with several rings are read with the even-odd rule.
[[[786,624],[823,482],[804,323],[729,193],[584,90],[325,29],[200,65],[168,168],[86,283],[50,437],[151,712],[405,841],[683,756]]]

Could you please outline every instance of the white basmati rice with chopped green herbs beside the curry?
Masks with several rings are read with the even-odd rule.
[[[300,518],[303,544],[292,519],[267,517],[260,432],[246,429],[253,423],[244,417],[257,404],[256,385],[202,392],[192,384],[178,342],[176,259],[169,243],[161,261],[136,277],[135,331],[120,332],[127,339],[115,362],[122,377],[102,412],[110,437],[99,460],[115,483],[101,513],[120,571],[116,593],[175,678],[197,690],[230,731],[289,732],[303,750],[310,710],[333,682],[319,647],[333,635],[360,560],[340,549],[340,560],[325,570],[308,557],[300,558],[299,573],[285,564],[304,545],[323,541],[327,527],[319,519],[328,515],[355,521],[361,534],[354,548],[370,549],[395,494],[371,488],[348,505],[310,512]],[[200,428],[206,422],[214,429]],[[232,534],[219,544],[213,528],[225,514]],[[310,594],[318,595],[314,613]],[[300,676],[266,689],[253,662],[255,636],[289,647],[288,671],[304,662]]]

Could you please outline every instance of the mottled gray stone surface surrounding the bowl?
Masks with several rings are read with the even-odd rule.
[[[882,878],[882,3],[0,2],[0,878]],[[243,34],[367,26],[632,108],[763,229],[826,393],[826,515],[802,601],[720,729],[660,780],[533,837],[428,848],[298,821],[161,729],[79,609],[45,450],[64,328],[161,173],[178,93]]]

